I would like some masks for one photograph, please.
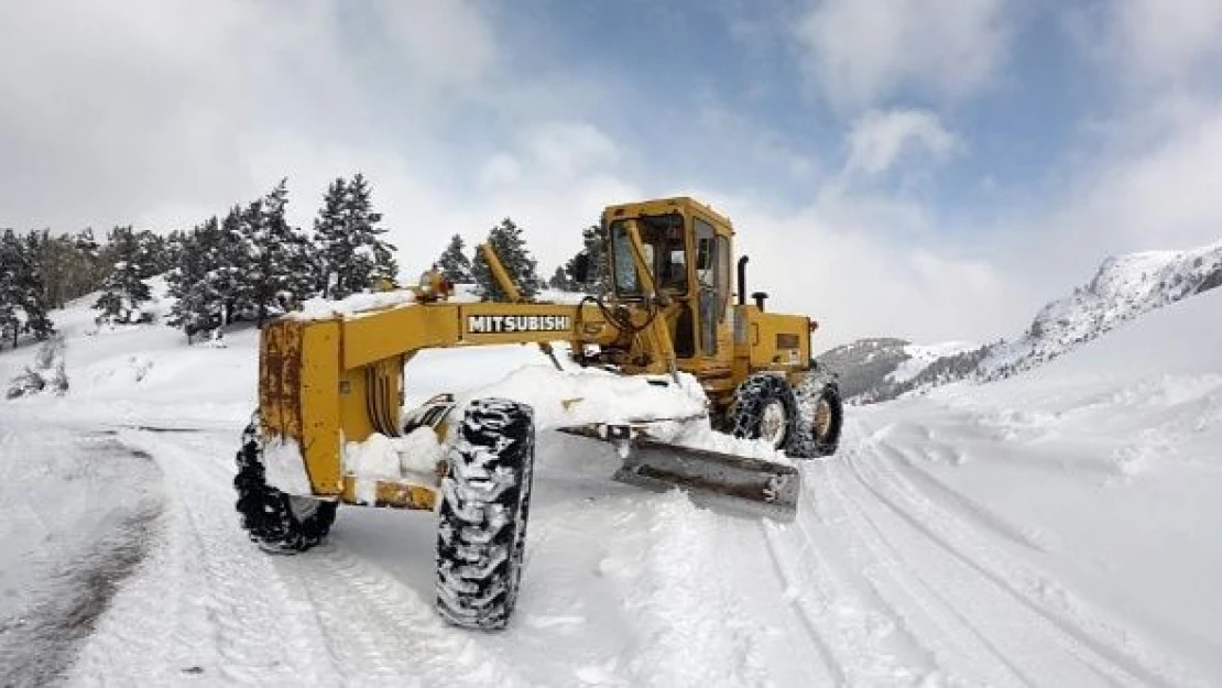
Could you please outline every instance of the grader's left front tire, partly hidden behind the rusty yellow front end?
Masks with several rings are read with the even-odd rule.
[[[242,528],[264,550],[303,552],[326,538],[335,523],[336,503],[290,496],[268,484],[263,468],[258,422],[242,433],[237,452],[237,512]]]

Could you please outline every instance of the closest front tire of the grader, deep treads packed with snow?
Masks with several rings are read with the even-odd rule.
[[[457,429],[437,524],[437,611],[464,628],[505,628],[517,604],[534,473],[534,412],[477,400]]]

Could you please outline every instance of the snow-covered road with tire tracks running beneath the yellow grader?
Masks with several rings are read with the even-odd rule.
[[[549,436],[519,612],[491,635],[434,615],[430,517],[345,508],[325,546],[270,556],[236,525],[232,434],[120,430],[117,441],[163,473],[160,528],[83,643],[71,683],[1207,686],[1218,677],[1216,665],[1187,661],[1123,607],[1106,606],[1106,594],[1058,573],[1057,555],[1088,552],[942,481],[931,468],[970,468],[987,446],[954,448],[953,423],[942,418],[935,430],[859,413],[838,458],[804,467],[803,503],[788,525],[611,484],[610,457],[578,456],[580,440]],[[1040,461],[1028,470],[1050,474]]]

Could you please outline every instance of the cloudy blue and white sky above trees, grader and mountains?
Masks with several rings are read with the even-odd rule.
[[[189,227],[363,171],[406,271],[697,196],[824,343],[1020,330],[1222,240],[1220,0],[0,4],[0,226]]]

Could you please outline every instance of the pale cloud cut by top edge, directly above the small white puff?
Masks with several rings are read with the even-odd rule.
[[[976,93],[1006,56],[1006,20],[1004,0],[814,0],[794,35],[815,88],[851,110]]]

